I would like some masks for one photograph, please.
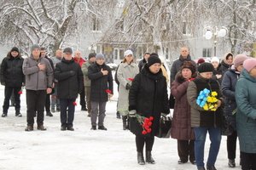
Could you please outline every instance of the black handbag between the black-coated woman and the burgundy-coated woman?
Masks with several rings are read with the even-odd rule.
[[[160,127],[159,132],[156,135],[158,138],[170,138],[172,127],[172,117],[160,116]]]

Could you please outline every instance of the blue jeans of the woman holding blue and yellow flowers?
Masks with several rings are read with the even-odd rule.
[[[214,166],[218,156],[221,141],[221,129],[219,127],[194,127],[195,131],[195,161],[197,167],[204,167],[204,150],[207,132],[209,133],[211,145],[207,160],[208,166]]]

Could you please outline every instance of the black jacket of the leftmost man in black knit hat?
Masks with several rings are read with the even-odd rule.
[[[13,57],[10,53],[5,57],[1,64],[1,84],[6,87],[20,88],[25,82],[22,71],[23,58],[20,54]]]

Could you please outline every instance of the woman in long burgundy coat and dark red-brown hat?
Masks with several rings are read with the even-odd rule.
[[[171,136],[177,139],[178,164],[190,161],[195,164],[195,135],[190,123],[190,106],[187,99],[187,88],[191,79],[195,78],[195,66],[189,61],[183,63],[172,82],[171,93],[176,99],[173,112]]]

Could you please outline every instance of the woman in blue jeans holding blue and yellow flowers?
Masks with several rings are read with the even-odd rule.
[[[215,161],[221,141],[221,116],[223,98],[220,85],[212,79],[212,64],[198,67],[199,75],[189,82],[187,98],[191,110],[191,127],[195,132],[195,162],[198,170],[205,170],[204,148],[207,133],[211,145],[207,159],[207,170],[216,170]]]

